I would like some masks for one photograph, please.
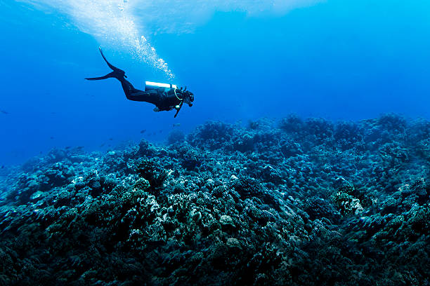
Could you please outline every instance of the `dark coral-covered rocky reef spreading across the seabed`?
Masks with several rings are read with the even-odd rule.
[[[53,149],[0,181],[0,285],[429,285],[430,122],[288,116]]]

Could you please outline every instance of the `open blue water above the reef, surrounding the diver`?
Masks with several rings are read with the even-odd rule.
[[[0,165],[163,142],[208,120],[430,117],[428,1],[100,2],[0,1]],[[99,46],[136,88],[187,86],[194,106],[174,118],[126,100],[115,79],[84,81],[110,71]]]

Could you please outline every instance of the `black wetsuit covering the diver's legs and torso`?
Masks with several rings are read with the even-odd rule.
[[[122,89],[129,100],[155,104],[159,111],[169,111],[174,109],[176,105],[181,104],[182,100],[178,98],[173,89],[167,92],[158,89],[143,91],[134,88],[124,77],[117,79],[121,82]]]

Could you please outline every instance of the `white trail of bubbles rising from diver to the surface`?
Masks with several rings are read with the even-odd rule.
[[[139,32],[136,17],[126,0],[21,0],[41,10],[64,13],[82,32],[91,34],[103,45],[118,46],[136,60],[150,64],[174,79],[169,65]]]

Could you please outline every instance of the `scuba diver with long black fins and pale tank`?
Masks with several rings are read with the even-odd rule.
[[[149,102],[155,104],[154,111],[170,111],[171,109],[176,109],[176,114],[181,110],[182,104],[185,102],[190,107],[193,106],[194,95],[185,88],[178,88],[171,83],[153,83],[151,81],[145,81],[145,90],[138,90],[133,87],[133,85],[127,81],[125,78],[125,72],[122,69],[114,67],[110,62],[107,62],[105,55],[101,48],[100,54],[107,65],[112,69],[110,74],[105,76],[100,76],[96,78],[86,78],[89,81],[98,81],[100,79],[110,79],[115,78],[121,82],[122,89],[128,100],[139,101],[139,102]]]

